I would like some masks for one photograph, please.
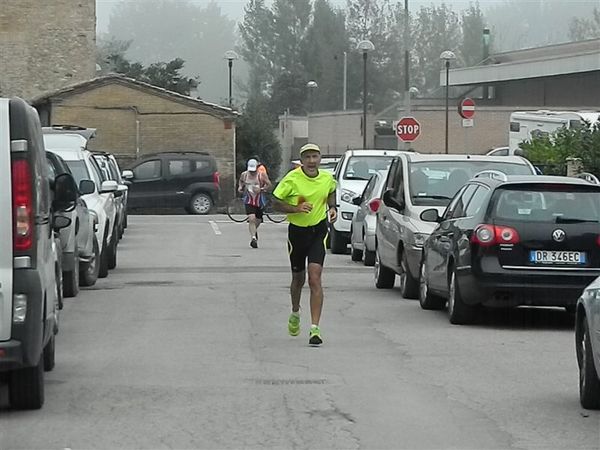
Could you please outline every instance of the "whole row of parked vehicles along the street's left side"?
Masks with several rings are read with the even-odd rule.
[[[0,99],[0,379],[15,409],[44,403],[63,295],[117,264],[115,203],[127,187],[101,169],[107,155],[86,149],[92,134],[43,129],[25,101]]]

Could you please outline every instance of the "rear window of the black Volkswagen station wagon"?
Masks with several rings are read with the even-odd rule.
[[[583,223],[600,221],[600,191],[568,185],[499,189],[493,216],[523,222]]]

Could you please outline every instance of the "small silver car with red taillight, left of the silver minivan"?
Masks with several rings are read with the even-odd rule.
[[[360,197],[353,203],[358,206],[350,226],[350,256],[352,261],[363,260],[365,266],[375,264],[375,230],[377,210],[381,206],[381,196],[387,170],[375,172]]]

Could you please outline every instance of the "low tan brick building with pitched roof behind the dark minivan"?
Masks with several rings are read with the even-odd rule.
[[[95,128],[90,149],[113,153],[123,167],[151,153],[208,152],[217,160],[225,197],[233,193],[238,113],[230,108],[116,74],[43,94],[32,103],[43,125]]]

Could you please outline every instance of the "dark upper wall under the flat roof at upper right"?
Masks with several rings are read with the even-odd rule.
[[[600,72],[518,80],[496,85],[496,102],[503,106],[539,105],[536,109],[600,108]]]

